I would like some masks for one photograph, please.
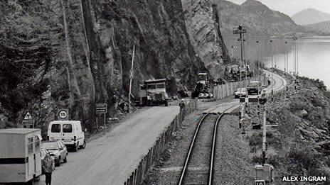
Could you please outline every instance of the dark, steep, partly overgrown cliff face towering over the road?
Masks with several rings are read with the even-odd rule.
[[[70,108],[94,120],[94,105],[166,78],[173,93],[206,71],[191,46],[181,1],[6,0],[0,3],[0,101],[12,121],[26,110],[37,125]]]

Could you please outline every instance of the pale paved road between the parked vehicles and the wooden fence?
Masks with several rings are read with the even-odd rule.
[[[70,152],[68,163],[56,167],[53,184],[123,184],[178,113],[178,106],[155,106],[135,113],[101,138],[87,142],[84,150]],[[44,184],[44,178],[37,184]]]

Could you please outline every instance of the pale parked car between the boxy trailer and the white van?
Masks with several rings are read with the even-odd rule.
[[[55,167],[60,166],[60,162],[67,162],[68,150],[60,140],[44,141],[41,143],[41,148],[48,150],[50,156],[54,157]]]

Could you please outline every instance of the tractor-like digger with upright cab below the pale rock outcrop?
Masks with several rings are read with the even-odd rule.
[[[195,84],[195,88],[191,93],[191,98],[195,99],[211,99],[213,94],[208,92],[208,74],[205,72],[198,73],[198,81]]]

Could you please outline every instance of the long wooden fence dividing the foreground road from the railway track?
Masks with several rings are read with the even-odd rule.
[[[183,108],[183,110],[176,115],[176,118],[174,118],[171,124],[166,128],[164,133],[161,133],[154,143],[154,146],[151,147],[147,152],[147,155],[141,159],[138,167],[134,169],[132,174],[129,175],[129,178],[124,182],[124,185],[142,184],[144,176],[147,174],[154,162],[161,158],[161,154],[168,147],[169,141],[173,137],[174,133],[181,128],[183,119],[197,108],[196,100],[186,101],[185,103],[186,108]]]

